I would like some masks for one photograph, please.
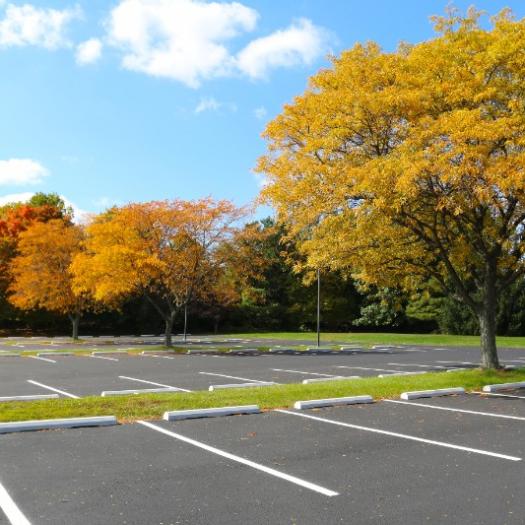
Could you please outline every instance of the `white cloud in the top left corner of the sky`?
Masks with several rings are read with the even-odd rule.
[[[31,4],[7,4],[0,19],[0,46],[39,46],[47,49],[67,46],[67,26],[81,16],[78,6],[59,10]]]

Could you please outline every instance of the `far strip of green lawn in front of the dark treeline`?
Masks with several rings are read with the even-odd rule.
[[[314,332],[266,332],[251,334],[225,334],[222,337],[254,338],[254,339],[289,339],[302,340],[314,344],[317,335]],[[362,345],[374,344],[403,344],[403,345],[433,345],[433,346],[479,346],[477,335],[447,335],[447,334],[384,334],[384,333],[335,333],[321,334],[323,341],[337,341],[340,343],[357,343]],[[525,337],[498,337],[500,347],[525,348]]]

